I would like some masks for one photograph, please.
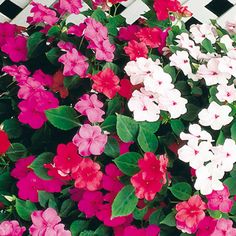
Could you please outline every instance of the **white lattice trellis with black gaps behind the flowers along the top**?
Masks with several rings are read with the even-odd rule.
[[[18,25],[26,26],[26,18],[30,14],[30,0],[0,0],[0,22],[11,21]],[[55,0],[35,0],[47,6]],[[208,22],[217,19],[223,26],[229,19],[236,16],[236,0],[181,0],[193,12],[193,17],[187,20],[187,24]],[[142,0],[128,0],[122,3],[124,10],[120,13],[126,18],[127,23],[135,22],[141,14],[149,10]],[[87,5],[84,5],[87,8]],[[79,23],[83,19],[81,15],[71,15],[70,22]]]

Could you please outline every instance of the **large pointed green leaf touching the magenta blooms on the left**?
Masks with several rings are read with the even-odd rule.
[[[47,110],[45,113],[49,122],[58,129],[70,130],[80,125],[76,111],[72,107],[60,106]]]

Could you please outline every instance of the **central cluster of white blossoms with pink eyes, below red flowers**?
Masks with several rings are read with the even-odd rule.
[[[128,102],[136,121],[157,121],[160,110],[167,111],[175,119],[187,112],[187,100],[174,88],[171,76],[164,72],[160,61],[137,58],[125,67],[132,85],[141,85]]]

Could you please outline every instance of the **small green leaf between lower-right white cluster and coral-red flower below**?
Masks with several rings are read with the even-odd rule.
[[[179,200],[188,200],[192,195],[192,187],[185,182],[179,182],[169,187],[171,193]]]

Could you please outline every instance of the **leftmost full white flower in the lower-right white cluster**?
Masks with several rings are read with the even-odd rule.
[[[198,143],[191,142],[188,145],[184,145],[178,150],[179,159],[183,162],[189,162],[189,165],[198,169],[204,165],[205,162],[210,161],[214,155],[210,151],[212,145],[210,142]]]

